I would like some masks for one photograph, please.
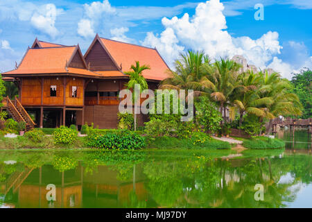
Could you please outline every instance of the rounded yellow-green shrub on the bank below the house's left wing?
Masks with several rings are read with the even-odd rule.
[[[77,130],[73,130],[71,128],[67,128],[66,126],[61,126],[57,128],[54,133],[54,142],[55,144],[73,144],[77,140]]]

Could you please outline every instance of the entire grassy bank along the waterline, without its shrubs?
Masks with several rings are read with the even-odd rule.
[[[51,133],[51,130],[44,130],[44,133]],[[116,133],[116,130],[98,130],[97,133],[105,135],[107,133]],[[120,133],[120,132],[119,132]],[[242,139],[243,146],[249,149],[276,149],[284,148],[285,143],[281,139],[270,139],[268,137],[256,137],[252,139]],[[158,148],[166,149],[201,149],[201,150],[216,150],[230,149],[231,144],[228,142],[219,141],[216,139],[205,139],[194,143],[192,139],[178,139],[175,137],[157,137],[151,139],[145,137],[145,149]],[[0,149],[22,149],[22,148],[37,148],[37,149],[60,149],[60,148],[90,148],[88,146],[88,137],[77,137],[72,144],[55,144],[53,136],[45,135],[40,142],[34,142],[27,137],[5,138],[0,136]]]

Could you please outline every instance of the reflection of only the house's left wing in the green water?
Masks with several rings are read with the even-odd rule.
[[[46,165],[34,169],[18,189],[17,207],[81,207],[82,177],[80,167],[64,173]],[[55,185],[56,200],[46,200],[46,185]]]

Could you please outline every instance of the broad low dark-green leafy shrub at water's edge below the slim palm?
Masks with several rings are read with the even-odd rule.
[[[141,149],[146,146],[144,137],[128,130],[122,133],[94,134],[89,136],[87,146],[105,149]]]

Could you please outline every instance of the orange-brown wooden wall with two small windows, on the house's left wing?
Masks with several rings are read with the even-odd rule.
[[[44,91],[42,100],[41,78],[23,78],[21,85],[21,104],[22,105],[64,105],[64,77],[44,78]],[[83,106],[84,89],[83,78],[66,77],[66,104],[67,106]],[[56,96],[50,96],[51,85],[56,85]],[[71,87],[77,87],[77,98],[71,96]]]

